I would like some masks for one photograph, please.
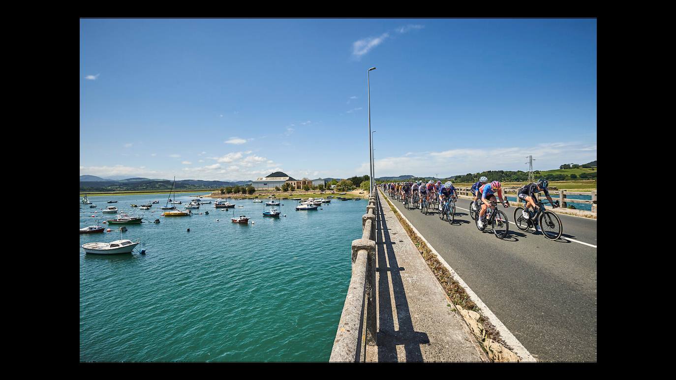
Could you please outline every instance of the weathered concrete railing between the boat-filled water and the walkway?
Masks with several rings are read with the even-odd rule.
[[[376,197],[362,216],[362,238],[352,242],[352,278],[329,362],[364,362],[366,345],[376,344]]]

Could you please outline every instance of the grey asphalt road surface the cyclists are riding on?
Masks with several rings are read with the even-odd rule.
[[[558,214],[556,241],[510,223],[500,240],[477,229],[471,200],[458,198],[452,225],[389,200],[537,360],[597,360],[595,219]],[[514,221],[513,206],[498,208]]]

